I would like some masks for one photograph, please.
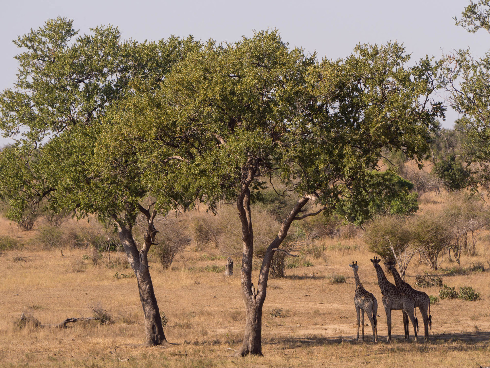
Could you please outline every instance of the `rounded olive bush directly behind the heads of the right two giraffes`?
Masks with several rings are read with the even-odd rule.
[[[366,226],[365,241],[368,250],[379,255],[384,262],[392,260],[390,246],[398,252],[411,241],[407,220],[399,215],[379,216]]]

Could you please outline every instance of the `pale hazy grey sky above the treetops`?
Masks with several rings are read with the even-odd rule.
[[[20,52],[14,38],[43,26],[58,15],[73,19],[75,29],[88,33],[90,27],[118,26],[123,38],[138,41],[170,35],[217,41],[236,41],[252,30],[278,28],[284,41],[317,51],[319,57],[347,56],[358,43],[404,43],[418,59],[425,54],[470,47],[475,55],[489,50],[490,35],[470,34],[455,26],[469,0],[1,0],[0,90],[12,86]],[[458,118],[447,114],[444,127]],[[0,138],[0,144],[5,139]]]

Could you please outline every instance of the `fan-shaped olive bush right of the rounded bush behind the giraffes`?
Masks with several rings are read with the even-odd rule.
[[[429,263],[431,269],[437,270],[441,265],[439,256],[447,249],[451,239],[451,230],[444,214],[428,211],[410,220],[412,244]]]

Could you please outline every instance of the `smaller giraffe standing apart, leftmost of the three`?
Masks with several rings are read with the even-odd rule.
[[[354,305],[356,306],[357,313],[357,338],[356,341],[359,341],[359,324],[363,325],[363,335],[362,341],[364,341],[364,312],[368,314],[369,322],[371,322],[372,327],[372,342],[378,341],[378,321],[376,320],[376,314],[378,313],[378,301],[369,291],[364,289],[363,284],[359,280],[359,275],[357,273],[358,265],[357,261],[352,264],[349,264],[350,267],[354,270],[354,279],[356,280],[356,294],[354,296]],[[362,311],[362,319],[359,316],[359,310]]]

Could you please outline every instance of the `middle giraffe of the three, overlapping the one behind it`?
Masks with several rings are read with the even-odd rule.
[[[400,290],[396,288],[385,276],[383,269],[379,265],[379,258],[374,257],[371,260],[374,268],[376,269],[376,274],[378,276],[378,285],[381,289],[381,293],[383,294],[383,306],[385,307],[386,312],[386,323],[388,325],[388,339],[387,342],[392,340],[392,310],[403,310],[412,321],[414,326],[414,335],[415,340],[417,341],[417,328],[415,325],[415,317],[414,317],[414,302],[412,299],[402,293]],[[408,334],[405,334],[405,340],[408,339]]]

